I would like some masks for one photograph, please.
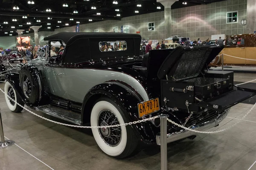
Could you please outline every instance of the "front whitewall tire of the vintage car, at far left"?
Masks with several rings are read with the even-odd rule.
[[[11,98],[15,100],[15,102],[13,102],[11,99],[9,99],[9,97],[5,95],[6,104],[8,108],[15,113],[21,112],[23,108],[17,105],[17,103],[19,103],[22,106],[24,106],[24,103],[20,99],[20,97],[16,94],[15,89],[12,87],[12,85],[8,81],[5,82],[4,93],[7,94],[8,96],[11,96]]]

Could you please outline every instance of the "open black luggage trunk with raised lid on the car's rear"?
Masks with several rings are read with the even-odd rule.
[[[208,70],[207,65],[221,50],[222,47],[208,45],[175,48],[157,73],[161,105],[189,113],[205,108],[224,111],[255,95],[255,90],[241,95],[243,91],[234,88],[232,71]]]

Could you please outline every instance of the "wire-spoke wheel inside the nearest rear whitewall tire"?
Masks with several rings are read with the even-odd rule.
[[[117,117],[111,111],[102,111],[98,117],[99,126],[119,125]],[[99,128],[99,134],[106,144],[116,146],[122,137],[121,127]]]

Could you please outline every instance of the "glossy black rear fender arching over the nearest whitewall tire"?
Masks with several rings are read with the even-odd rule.
[[[99,99],[101,96],[108,96],[109,98],[113,99],[119,108],[122,109],[123,113],[128,115],[130,122],[143,119],[139,118],[137,110],[137,104],[143,102],[142,99],[140,99],[140,96],[121,82],[105,82],[91,88],[84,97],[81,110],[82,120],[85,120],[85,117],[86,119],[90,119],[92,106],[95,100]],[[159,113],[161,113],[161,111],[159,111],[158,114]],[[157,115],[157,113],[154,113],[153,116],[155,115]],[[160,132],[160,127],[154,126],[152,122],[149,121],[133,124],[131,126],[136,132],[138,138],[146,144],[155,143],[156,134]]]

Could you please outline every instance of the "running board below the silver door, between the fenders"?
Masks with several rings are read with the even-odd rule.
[[[79,113],[67,111],[63,108],[58,108],[52,105],[39,106],[36,107],[35,110],[74,123],[76,125],[81,125],[81,114]]]

